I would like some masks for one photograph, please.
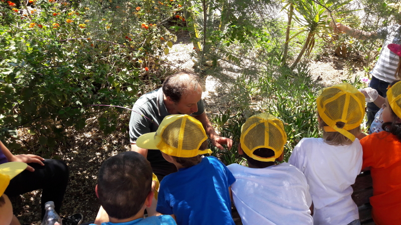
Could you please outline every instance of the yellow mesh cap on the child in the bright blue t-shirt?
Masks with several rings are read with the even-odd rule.
[[[208,139],[199,120],[186,114],[168,115],[161,121],[156,132],[145,133],[138,137],[136,145],[146,149],[159,149],[176,157],[193,157],[212,153],[210,149],[199,150]]]

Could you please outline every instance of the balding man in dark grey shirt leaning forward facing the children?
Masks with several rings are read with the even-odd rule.
[[[157,90],[143,94],[132,107],[129,121],[129,136],[131,150],[145,156],[153,169],[154,174],[161,179],[176,171],[174,164],[167,162],[160,150],[144,149],[136,146],[136,139],[149,132],[155,132],[163,118],[170,114],[189,114],[202,122],[212,143],[220,149],[222,144],[229,148],[233,140],[217,135],[208,116],[206,115],[202,97],[202,86],[199,77],[188,71],[176,72],[168,76],[163,86]]]

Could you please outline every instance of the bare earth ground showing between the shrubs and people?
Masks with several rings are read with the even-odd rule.
[[[167,56],[169,63],[180,68],[191,69],[193,61],[189,56],[192,44],[187,33],[178,35]],[[348,62],[348,66],[347,66]],[[348,69],[351,67],[352,70]],[[357,57],[346,60],[334,56],[332,52],[323,55],[319,60],[310,61],[310,74],[315,82],[324,85],[341,82],[342,79],[355,75],[364,76],[362,60]],[[225,107],[225,102],[219,102],[222,94],[218,92],[219,82],[213,77],[205,77],[203,98],[208,113],[218,113],[219,108]],[[127,132],[121,128],[129,121],[129,112],[122,115],[121,124],[115,132],[103,135],[97,125],[96,117],[87,120],[88,125],[80,131],[71,131],[66,145],[60,145],[57,154],[66,161],[70,169],[70,182],[67,187],[61,215],[67,216],[76,212],[84,215],[84,221],[94,220],[99,209],[99,201],[95,195],[97,172],[101,163],[108,157],[129,150]],[[20,130],[29,141],[29,134]],[[62,153],[64,152],[64,153]],[[41,191],[33,191],[12,198],[14,213],[22,224],[40,224],[40,195]],[[237,223],[240,221],[237,219]]]

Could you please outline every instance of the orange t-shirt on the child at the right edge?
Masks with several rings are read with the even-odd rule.
[[[373,220],[378,225],[401,222],[401,141],[381,131],[360,140],[362,168],[370,166],[373,196],[370,197]]]

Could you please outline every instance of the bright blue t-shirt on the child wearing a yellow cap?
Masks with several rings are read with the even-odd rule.
[[[156,211],[174,214],[178,225],[235,225],[229,186],[235,178],[219,159],[204,157],[160,182]]]

